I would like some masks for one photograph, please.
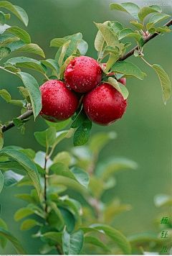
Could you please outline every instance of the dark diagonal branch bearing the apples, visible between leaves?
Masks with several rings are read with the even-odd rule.
[[[172,19],[169,20],[169,22],[167,22],[166,24],[164,24],[164,26],[170,27],[172,25]],[[144,37],[144,42],[146,44],[146,42],[152,40],[154,37],[156,37],[157,35],[159,35],[158,32],[149,35],[148,37]],[[123,57],[121,57],[118,61],[120,60],[126,60],[127,58],[129,58],[131,55],[133,55],[134,51],[138,50],[138,46],[135,46],[132,50],[130,50],[130,52],[128,52],[127,54],[123,55]],[[22,116],[17,117],[18,119],[24,120],[27,119],[29,116],[32,116],[33,111],[29,110],[26,113],[22,114]],[[9,122],[9,124],[7,125],[3,125],[1,127],[2,132],[6,132],[8,129],[11,129],[12,127],[14,127],[14,122]]]

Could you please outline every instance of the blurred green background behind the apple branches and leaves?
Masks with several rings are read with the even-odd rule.
[[[50,48],[49,42],[54,37],[65,37],[77,32],[82,32],[83,39],[89,44],[87,55],[97,59],[94,49],[94,40],[97,33],[95,22],[106,20],[118,20],[125,27],[132,27],[129,22],[132,19],[124,12],[110,11],[110,0],[11,0],[12,4],[21,6],[29,15],[29,25],[24,27],[14,15],[11,15],[9,24],[16,24],[26,29],[31,35],[32,42],[43,48],[46,58],[54,58],[57,48]],[[149,5],[151,1],[133,1],[140,7]],[[156,1],[162,4],[163,13],[172,14],[171,1]],[[166,3],[166,4],[164,4]],[[152,3],[153,4],[153,3]],[[163,22],[162,22],[163,24]],[[134,27],[133,27],[134,29]],[[145,59],[153,64],[160,64],[168,73],[172,81],[172,34],[167,33],[158,36],[146,45]],[[135,40],[131,40],[135,46]],[[16,55],[16,54],[15,54]],[[15,56],[13,55],[13,56]],[[17,54],[19,55],[19,53]],[[22,54],[20,54],[22,55]],[[24,54],[25,56],[30,56]],[[12,57],[12,56],[11,56]],[[39,56],[33,55],[39,60]],[[128,61],[135,63],[148,76],[144,81],[136,78],[128,78],[126,86],[130,92],[128,108],[123,118],[110,127],[93,125],[92,134],[98,131],[115,131],[118,138],[110,142],[100,154],[100,159],[109,155],[124,156],[138,163],[138,170],[126,170],[117,175],[118,183],[113,190],[105,194],[106,200],[112,195],[120,197],[123,204],[131,204],[133,209],[120,214],[115,220],[115,228],[125,235],[137,232],[155,231],[153,220],[161,212],[153,204],[153,196],[157,193],[171,194],[171,99],[167,105],[163,105],[161,84],[155,71],[149,68],[140,59],[130,57]],[[27,70],[42,84],[43,76],[32,70]],[[0,73],[0,88],[6,88],[13,99],[20,99],[17,86],[22,86],[19,78],[5,73]],[[18,106],[10,106],[0,99],[1,121],[6,122],[13,117],[19,116]],[[10,129],[4,133],[6,145],[18,145],[24,148],[31,147],[34,150],[44,150],[34,140],[33,133],[42,131],[47,126],[38,117],[33,118],[26,124],[25,135],[20,134],[18,129]],[[58,151],[68,150],[72,147],[72,140],[59,144]],[[19,223],[14,221],[14,213],[19,207],[26,204],[19,198],[14,198],[15,193],[26,192],[24,188],[4,189],[0,195],[1,218],[6,221],[9,231],[16,235],[22,242],[28,254],[39,254],[37,249],[39,239],[30,238],[32,232],[37,230],[21,232]],[[29,188],[28,188],[29,191]],[[72,196],[72,195],[71,195]],[[75,196],[75,195],[74,195]],[[8,243],[1,254],[16,254],[11,244]]]

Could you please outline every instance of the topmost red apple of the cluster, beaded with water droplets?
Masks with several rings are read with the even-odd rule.
[[[80,56],[71,60],[64,73],[67,87],[78,93],[86,93],[102,80],[102,69],[96,60]]]

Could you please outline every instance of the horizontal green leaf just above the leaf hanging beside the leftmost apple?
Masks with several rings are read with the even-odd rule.
[[[9,60],[6,61],[5,63],[5,67],[6,65],[16,65],[19,67],[23,67],[23,68],[31,68],[33,70],[37,70],[41,73],[47,73],[47,68],[42,65],[42,63],[38,60],[34,60],[32,58],[27,58],[27,57],[15,57],[15,58],[11,58]]]

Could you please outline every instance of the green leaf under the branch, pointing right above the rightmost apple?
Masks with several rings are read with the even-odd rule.
[[[141,72],[141,70],[133,63],[129,63],[127,61],[118,61],[113,65],[111,71],[120,74],[125,74],[126,77],[132,76],[140,80],[143,80],[143,73]]]

